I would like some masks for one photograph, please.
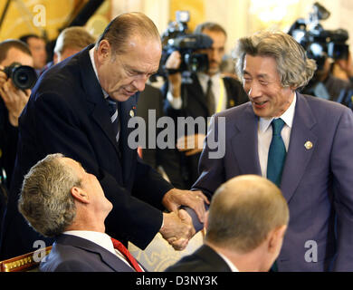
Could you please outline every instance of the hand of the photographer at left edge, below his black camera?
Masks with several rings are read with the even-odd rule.
[[[3,67],[0,67],[0,69],[2,68]],[[18,118],[29,100],[31,90],[22,91],[17,89],[12,80],[7,79],[4,72],[0,72],[0,95],[5,102],[10,123],[14,127],[17,127]]]

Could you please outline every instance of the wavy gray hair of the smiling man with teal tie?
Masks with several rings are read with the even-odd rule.
[[[237,74],[242,79],[245,54],[273,57],[283,87],[297,89],[305,86],[316,70],[315,61],[307,57],[301,44],[282,32],[261,31],[238,40],[234,58]]]

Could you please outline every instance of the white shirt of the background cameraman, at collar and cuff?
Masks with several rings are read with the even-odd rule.
[[[201,88],[204,94],[207,92],[207,82],[210,79],[210,76],[205,73],[197,73],[198,82],[200,82]],[[221,77],[221,73],[215,73],[212,77],[212,92],[215,96],[215,106],[218,108],[218,102],[220,102],[221,94],[223,93],[224,96],[221,100],[220,104],[220,111],[226,109],[227,104],[227,92],[224,87],[224,80]],[[177,96],[175,96],[177,97]],[[167,92],[167,101],[170,103],[173,109],[180,110],[183,106],[182,98],[174,98],[171,92]],[[206,101],[206,100],[205,100]]]

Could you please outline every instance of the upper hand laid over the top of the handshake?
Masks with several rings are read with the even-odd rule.
[[[180,206],[193,208],[200,222],[205,222],[205,203],[210,202],[201,191],[170,189],[162,199],[167,210],[177,212]]]

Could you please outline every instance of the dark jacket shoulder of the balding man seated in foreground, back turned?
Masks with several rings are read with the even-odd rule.
[[[166,272],[231,272],[231,268],[212,247],[203,245],[195,253],[167,267]]]

